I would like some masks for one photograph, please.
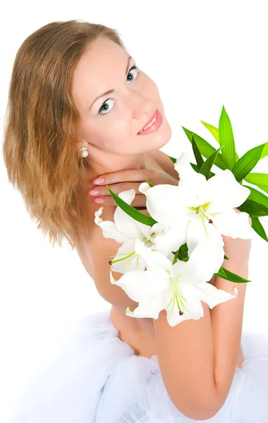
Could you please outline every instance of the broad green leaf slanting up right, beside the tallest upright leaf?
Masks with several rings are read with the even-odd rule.
[[[257,162],[260,160],[265,145],[266,143],[258,145],[257,147],[253,147],[252,149],[248,150],[248,152],[246,152],[242,157],[240,157],[238,161],[236,161],[236,164],[233,166],[231,171],[233,172],[233,175],[238,182],[243,180],[245,176],[247,176],[248,173],[252,171],[252,168],[256,166]]]

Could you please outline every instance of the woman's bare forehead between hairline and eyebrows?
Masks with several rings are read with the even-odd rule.
[[[99,94],[115,88],[116,78],[121,80],[126,71],[127,59],[128,53],[111,39],[102,37],[90,44],[73,74],[73,98],[78,109],[88,108]]]

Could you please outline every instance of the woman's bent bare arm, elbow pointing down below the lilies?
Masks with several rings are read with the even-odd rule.
[[[222,266],[243,278],[248,278],[249,257],[243,246],[249,242],[231,238],[224,247],[230,260],[224,260]],[[238,297],[213,309],[202,302],[204,317],[173,328],[165,311],[154,320],[164,384],[176,407],[192,419],[213,417],[224,405],[240,349],[246,284],[215,276],[214,286],[229,293],[236,286]]]

